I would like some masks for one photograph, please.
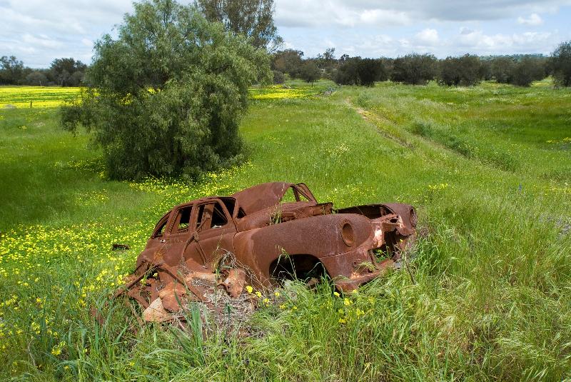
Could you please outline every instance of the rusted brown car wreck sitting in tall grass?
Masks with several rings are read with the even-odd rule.
[[[246,285],[326,274],[339,291],[353,291],[398,266],[415,226],[408,204],[334,209],[305,184],[259,184],[168,211],[121,293],[141,304],[146,321],[168,321],[185,301],[213,308],[208,288],[236,298]]]

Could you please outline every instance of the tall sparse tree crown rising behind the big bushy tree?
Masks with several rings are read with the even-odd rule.
[[[197,0],[208,21],[224,24],[227,31],[244,34],[256,48],[276,51],[283,40],[273,24],[273,0]]]

